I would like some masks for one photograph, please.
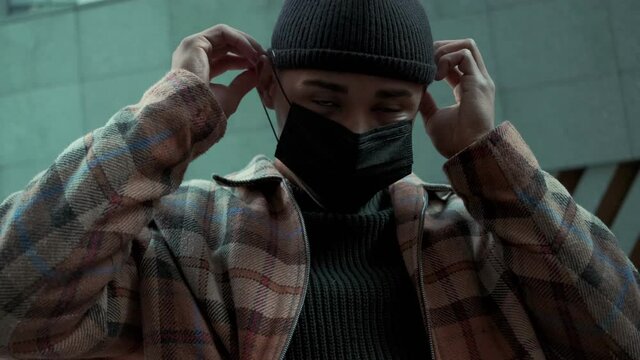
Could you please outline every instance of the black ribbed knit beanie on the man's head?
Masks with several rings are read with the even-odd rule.
[[[419,0],[285,0],[271,37],[279,69],[353,72],[429,84],[436,73]]]

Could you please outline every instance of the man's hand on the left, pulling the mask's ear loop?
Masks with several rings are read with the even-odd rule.
[[[171,68],[188,70],[207,83],[225,71],[246,70],[229,85],[210,85],[229,117],[256,86],[255,65],[264,53],[251,36],[227,25],[216,25],[184,38],[173,52]]]

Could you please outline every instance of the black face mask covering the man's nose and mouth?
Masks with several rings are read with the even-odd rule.
[[[378,191],[411,174],[412,120],[356,134],[292,104],[276,158],[328,210],[356,210]]]

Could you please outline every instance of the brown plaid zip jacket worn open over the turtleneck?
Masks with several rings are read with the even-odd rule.
[[[309,264],[287,182],[257,157],[180,185],[225,126],[170,72],[0,205],[0,355],[283,354]],[[445,171],[455,193],[390,188],[437,358],[640,359],[637,270],[509,123]]]

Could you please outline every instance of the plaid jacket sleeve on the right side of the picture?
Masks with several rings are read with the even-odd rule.
[[[512,124],[444,170],[470,214],[502,243],[500,257],[552,351],[640,358],[637,269],[614,234],[540,169]]]

